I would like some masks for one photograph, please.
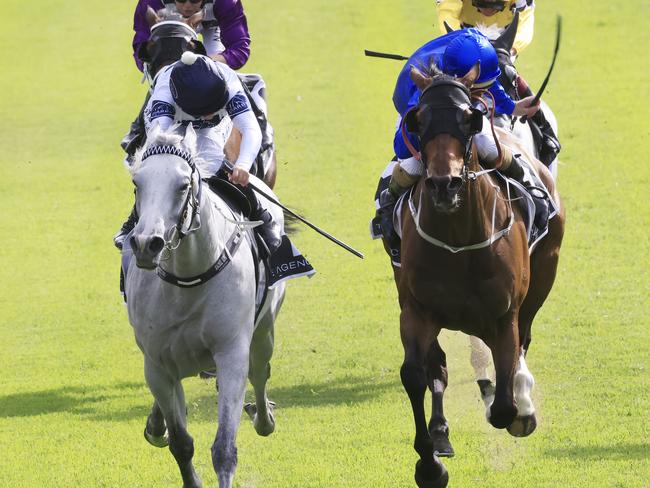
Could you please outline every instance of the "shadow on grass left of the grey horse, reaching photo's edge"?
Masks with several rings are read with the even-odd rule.
[[[0,396],[0,418],[33,417],[65,412],[91,420],[129,420],[146,417],[149,406],[113,410],[114,401],[128,397],[142,403],[146,385],[125,382],[114,385],[64,386]]]

